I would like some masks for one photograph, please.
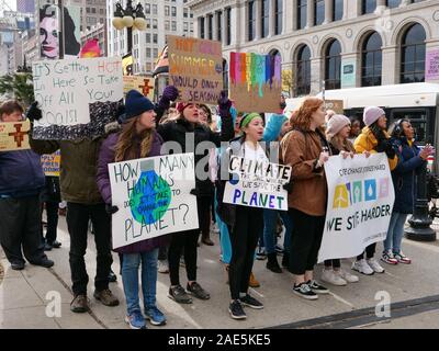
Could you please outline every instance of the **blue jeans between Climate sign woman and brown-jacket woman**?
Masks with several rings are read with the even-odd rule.
[[[281,216],[283,225],[285,226],[283,249],[284,252],[290,252],[293,225],[288,211],[263,210],[263,245],[267,253],[275,252],[275,227],[278,214]]]

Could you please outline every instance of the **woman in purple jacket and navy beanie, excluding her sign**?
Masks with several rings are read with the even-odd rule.
[[[138,158],[160,156],[162,138],[155,131],[155,105],[136,90],[126,95],[125,118],[122,131],[111,134],[102,144],[98,161],[98,186],[109,212],[119,211],[111,203],[109,163]],[[157,260],[159,247],[166,246],[168,238],[159,236],[134,242],[114,251],[123,253],[122,280],[125,292],[127,315],[125,321],[132,329],[145,329],[145,317],[138,301],[138,268],[142,263],[142,291],[146,318],[155,326],[166,324],[164,314],[157,308]]]

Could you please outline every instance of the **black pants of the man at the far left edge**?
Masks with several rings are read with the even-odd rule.
[[[9,262],[31,263],[46,258],[41,240],[40,196],[0,199],[0,242]]]

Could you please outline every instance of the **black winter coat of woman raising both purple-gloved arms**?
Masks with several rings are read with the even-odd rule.
[[[181,152],[194,152],[195,169],[200,161],[204,161],[205,179],[201,180],[195,173],[195,189],[199,196],[211,196],[213,194],[213,184],[209,178],[209,148],[202,148],[201,152],[196,151],[200,143],[211,141],[216,147],[221,146],[222,141],[228,141],[234,137],[234,127],[232,123],[232,115],[222,116],[221,133],[212,132],[209,127],[201,124],[191,124],[184,118],[179,118],[166,124],[160,124],[157,132],[161,135],[165,141],[177,141],[181,146]],[[194,139],[194,145],[187,145],[187,135],[189,140]],[[172,150],[170,154],[180,154]]]

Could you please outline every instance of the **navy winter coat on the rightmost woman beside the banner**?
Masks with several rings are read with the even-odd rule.
[[[407,138],[392,138],[392,144],[398,157],[398,163],[392,171],[395,189],[394,212],[410,214],[416,199],[416,172],[426,163],[419,157],[419,148]]]

